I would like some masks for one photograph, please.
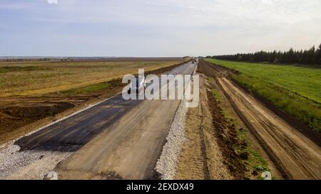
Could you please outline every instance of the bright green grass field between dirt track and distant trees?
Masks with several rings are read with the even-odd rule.
[[[321,69],[206,59],[235,69],[234,79],[292,117],[321,132]]]

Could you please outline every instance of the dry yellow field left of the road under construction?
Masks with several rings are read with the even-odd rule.
[[[181,63],[176,59],[0,63],[0,97],[42,95],[105,82],[138,68],[156,70]]]

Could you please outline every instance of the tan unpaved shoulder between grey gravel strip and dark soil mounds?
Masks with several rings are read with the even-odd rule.
[[[200,104],[186,114],[186,141],[180,153],[175,179],[232,179],[215,137],[208,109],[207,87],[200,76]]]

